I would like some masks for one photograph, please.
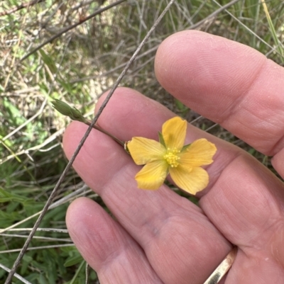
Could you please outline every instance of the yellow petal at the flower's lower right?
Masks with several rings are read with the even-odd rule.
[[[179,188],[193,195],[202,191],[209,183],[207,171],[202,168],[192,168],[190,171],[183,166],[178,166],[170,168],[170,176]]]

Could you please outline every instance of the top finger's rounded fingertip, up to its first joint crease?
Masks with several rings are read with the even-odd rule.
[[[173,96],[217,120],[220,106],[226,109],[244,95],[265,62],[264,55],[239,42],[184,30],[158,48],[155,75]]]

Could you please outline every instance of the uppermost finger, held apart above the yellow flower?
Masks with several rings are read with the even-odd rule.
[[[173,96],[264,154],[284,146],[284,69],[251,47],[199,31],[159,47],[155,74]]]

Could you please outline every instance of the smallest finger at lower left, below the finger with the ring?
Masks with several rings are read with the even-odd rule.
[[[66,222],[70,237],[100,283],[162,283],[141,247],[97,203],[75,200]]]

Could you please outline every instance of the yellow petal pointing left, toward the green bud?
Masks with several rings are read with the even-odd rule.
[[[127,144],[132,159],[138,165],[144,165],[150,161],[163,159],[165,147],[155,140],[144,137],[133,137]]]

